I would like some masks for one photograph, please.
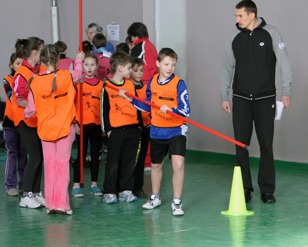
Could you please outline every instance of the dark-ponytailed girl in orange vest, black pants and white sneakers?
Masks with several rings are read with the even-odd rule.
[[[12,84],[13,121],[29,155],[28,164],[24,170],[24,192],[20,206],[30,208],[46,205],[45,197],[41,192],[43,154],[41,140],[37,135],[37,118],[33,115],[29,119],[24,119],[24,110],[28,105],[27,82],[35,72],[46,70],[44,66],[38,65],[43,46],[44,41],[38,37],[18,39],[15,44],[16,58],[23,58],[24,61],[16,71]]]

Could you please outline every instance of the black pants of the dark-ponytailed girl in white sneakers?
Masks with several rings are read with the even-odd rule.
[[[37,135],[37,128],[31,128],[24,121],[17,126],[23,143],[29,155],[29,161],[24,171],[24,192],[41,192],[43,170],[43,149],[41,139]]]

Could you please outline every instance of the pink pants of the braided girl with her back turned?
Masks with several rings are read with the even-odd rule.
[[[42,141],[45,167],[45,198],[47,208],[69,210],[69,159],[75,129],[71,125],[67,137],[55,142]]]

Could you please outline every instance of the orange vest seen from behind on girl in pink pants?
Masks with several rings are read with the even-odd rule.
[[[37,134],[43,141],[56,141],[66,137],[76,117],[75,88],[71,73],[58,70],[56,91],[51,92],[54,72],[37,75],[31,82],[36,116]]]

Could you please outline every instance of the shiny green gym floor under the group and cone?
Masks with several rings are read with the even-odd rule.
[[[3,186],[0,246],[308,246],[308,165],[277,161],[277,203],[264,204],[258,193],[258,159],[252,158],[255,192],[247,210],[255,214],[227,217],[221,211],[228,208],[234,164],[232,155],[187,151],[182,217],[171,213],[169,160],[164,165],[162,205],[154,210],[142,209],[146,199],[106,205],[102,197],[90,196],[89,168],[85,168],[85,197],[70,197],[72,216],[47,215],[45,208],[22,208],[20,197],[7,196]],[[102,162],[101,188],[103,178]],[[151,193],[149,172],[145,173],[144,191]]]

